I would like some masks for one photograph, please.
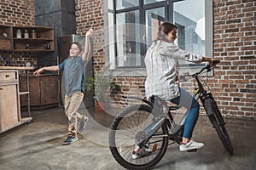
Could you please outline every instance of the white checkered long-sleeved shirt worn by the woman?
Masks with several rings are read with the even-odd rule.
[[[202,56],[190,54],[174,45],[173,42],[158,40],[148,48],[145,65],[148,77],[145,82],[146,97],[158,95],[162,99],[179,96],[177,83],[178,59],[200,63]]]

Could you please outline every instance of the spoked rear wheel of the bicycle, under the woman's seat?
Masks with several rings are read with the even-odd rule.
[[[154,139],[157,139],[159,147],[157,150],[152,152],[149,156],[144,156],[139,159],[131,159],[131,152],[134,150],[135,145],[135,136],[136,133],[139,132],[139,129],[143,129],[146,127],[147,123],[143,125],[145,120],[139,120],[140,118],[146,119],[147,121],[150,120],[148,117],[151,115],[152,108],[148,105],[132,105],[131,107],[127,108],[125,111],[122,111],[119,116],[117,116],[113,124],[111,126],[111,131],[108,135],[109,140],[109,148],[111,150],[111,153],[113,155],[113,158],[122,166],[127,169],[150,169],[154,167],[165,155],[166,149],[168,146],[168,130],[166,127],[166,123],[164,122],[160,129],[156,132],[157,134],[166,134],[162,135],[161,139],[154,138],[154,134],[151,138],[149,138],[149,148],[152,146],[150,145],[151,142],[155,142]],[[146,116],[148,116],[146,118]],[[145,121],[146,122],[146,121]],[[126,125],[126,124],[129,125]],[[128,127],[129,129],[125,129]],[[137,128],[138,127],[138,128]],[[127,132],[122,133],[122,130],[125,130]],[[120,132],[119,132],[120,131]],[[119,133],[121,133],[121,137],[125,135],[128,138],[124,138],[123,143],[119,143]],[[131,133],[134,133],[131,135]],[[131,137],[129,137],[129,134]],[[129,140],[131,140],[131,144],[129,143]],[[122,142],[122,141],[121,141]],[[126,146],[125,146],[126,144]],[[156,143],[155,143],[156,144]],[[126,147],[126,148],[125,148]]]

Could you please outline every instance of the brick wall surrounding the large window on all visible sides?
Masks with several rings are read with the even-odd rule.
[[[102,0],[76,0],[77,33],[84,35],[90,27],[103,26]],[[214,57],[221,59],[209,86],[225,116],[256,117],[256,2],[254,0],[213,0]],[[84,30],[85,28],[85,30]],[[103,39],[102,35],[94,41]],[[104,50],[94,53],[95,71],[104,65]],[[122,91],[113,100],[128,105],[122,94],[136,91],[144,94],[145,77],[116,77]],[[191,82],[182,84],[192,92]],[[201,110],[203,111],[203,110]]]

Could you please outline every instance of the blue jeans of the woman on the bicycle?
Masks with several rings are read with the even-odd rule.
[[[171,99],[171,102],[179,107],[183,106],[188,110],[188,116],[184,122],[183,138],[191,139],[195,123],[199,116],[200,105],[193,96],[183,88],[179,88],[179,92],[180,96]]]

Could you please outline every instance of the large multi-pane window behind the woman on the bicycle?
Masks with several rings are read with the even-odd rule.
[[[165,21],[177,26],[180,48],[212,56],[212,1],[108,0],[111,68],[145,68],[144,55],[156,38],[160,24]],[[180,64],[184,68],[200,66],[186,61],[180,61]]]

